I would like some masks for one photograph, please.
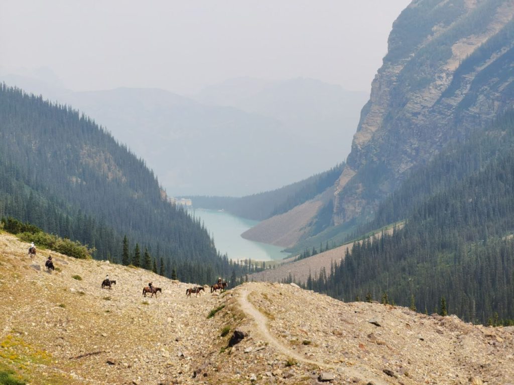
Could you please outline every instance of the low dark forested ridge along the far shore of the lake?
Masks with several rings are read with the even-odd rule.
[[[238,217],[262,221],[274,215],[286,213],[291,208],[315,198],[334,185],[343,168],[344,162],[303,181],[242,198],[193,197],[193,205],[201,208],[223,209]]]

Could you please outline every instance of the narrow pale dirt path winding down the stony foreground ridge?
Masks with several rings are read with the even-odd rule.
[[[366,378],[366,380],[370,381],[373,380],[376,385],[387,385],[387,382],[383,382],[382,380],[376,378],[374,375],[370,373],[363,373],[358,370],[355,370],[353,368],[343,367],[342,365],[333,365],[328,364],[325,362],[315,361],[315,360],[309,360],[306,359],[303,355],[298,354],[297,352],[289,349],[282,343],[280,343],[279,340],[277,340],[271,332],[268,329],[268,320],[266,319],[266,316],[264,316],[259,310],[255,309],[255,306],[253,306],[250,301],[248,300],[248,290],[244,290],[241,292],[241,295],[239,297],[239,303],[241,305],[241,310],[249,317],[251,317],[257,327],[257,330],[261,334],[262,338],[268,342],[273,348],[277,349],[278,352],[281,354],[294,358],[297,361],[301,361],[304,363],[309,363],[313,365],[317,365],[320,368],[325,369],[338,369],[342,368],[344,370],[344,373],[349,376],[354,376],[357,378]]]

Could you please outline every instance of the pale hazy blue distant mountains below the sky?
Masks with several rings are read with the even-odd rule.
[[[144,158],[174,196],[251,195],[340,163],[366,99],[308,79],[234,79],[189,97],[145,88],[71,92],[23,76],[3,79],[86,113]]]

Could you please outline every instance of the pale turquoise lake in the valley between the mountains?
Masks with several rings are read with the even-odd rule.
[[[195,217],[199,217],[205,227],[214,237],[214,244],[220,253],[227,253],[234,261],[249,259],[256,261],[280,260],[288,256],[282,253],[282,247],[266,243],[249,241],[241,237],[246,230],[259,223],[240,217],[235,217],[225,211],[195,208]]]

